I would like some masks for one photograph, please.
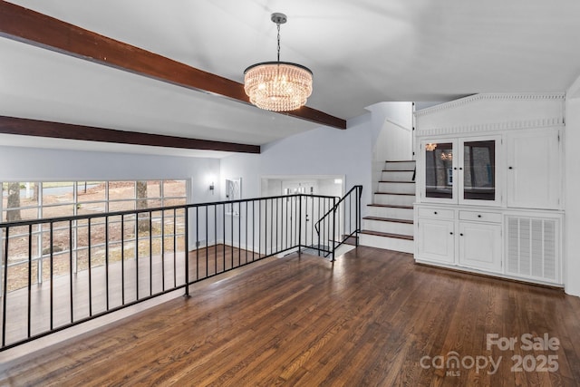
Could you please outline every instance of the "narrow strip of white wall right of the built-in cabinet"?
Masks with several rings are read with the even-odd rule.
[[[580,78],[566,94],[565,102],[565,292],[580,296]]]

